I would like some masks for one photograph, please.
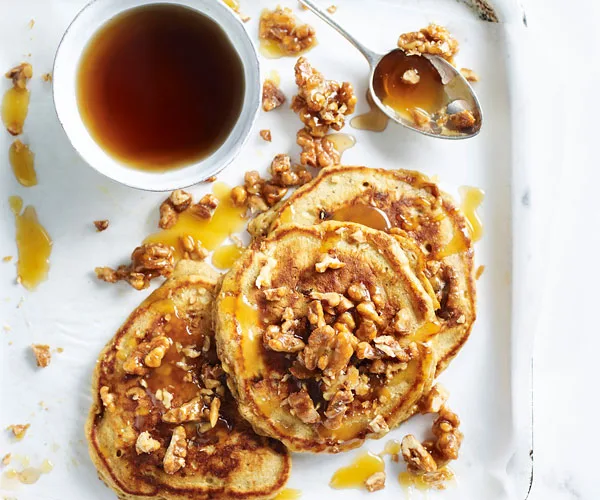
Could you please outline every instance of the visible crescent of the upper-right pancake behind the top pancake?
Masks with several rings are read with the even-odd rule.
[[[352,220],[400,231],[419,245],[439,302],[432,340],[441,372],[466,342],[475,321],[473,244],[465,217],[426,175],[409,170],[338,166],[256,217],[249,231],[264,236],[286,224]]]

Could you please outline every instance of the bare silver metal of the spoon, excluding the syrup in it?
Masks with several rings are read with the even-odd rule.
[[[381,60],[387,55],[391,54],[392,52],[401,49],[391,50],[387,54],[377,54],[371,49],[365,47],[361,42],[359,42],[344,28],[342,28],[336,21],[334,21],[331,18],[329,14],[327,14],[327,12],[315,5],[313,0],[300,0],[300,3],[308,7],[312,12],[314,12],[317,16],[323,19],[323,21],[325,21],[332,28],[336,29],[339,33],[341,33],[352,45],[354,45],[360,51],[360,53],[363,56],[365,56],[365,59],[371,67],[371,72],[369,74],[369,94],[373,99],[373,102],[377,105],[377,107],[383,113],[385,113],[391,120],[395,121],[396,123],[399,123],[403,127],[414,130],[415,132],[419,132],[430,137],[438,137],[440,139],[468,139],[469,137],[474,137],[479,133],[483,121],[483,114],[481,111],[481,106],[479,105],[479,100],[477,99],[475,92],[473,91],[465,77],[448,61],[446,61],[440,56],[433,56],[429,54],[424,54],[422,56],[410,56],[417,58],[423,57],[427,59],[440,75],[442,85],[444,86],[444,90],[448,98],[445,112],[448,115],[452,115],[455,113],[459,113],[463,110],[469,110],[475,117],[475,124],[473,125],[473,127],[467,130],[454,130],[449,129],[445,126],[433,126],[427,129],[420,128],[415,123],[413,123],[412,120],[401,116],[396,110],[385,105],[373,88],[375,72]],[[435,122],[432,123],[435,125]]]

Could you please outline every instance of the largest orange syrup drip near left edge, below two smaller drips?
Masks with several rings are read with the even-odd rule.
[[[35,208],[29,205],[21,212],[23,201],[16,196],[9,198],[9,205],[15,214],[17,279],[33,290],[48,277],[52,239],[40,224]]]

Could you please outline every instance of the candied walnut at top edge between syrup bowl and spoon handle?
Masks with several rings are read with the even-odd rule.
[[[316,43],[315,30],[308,24],[298,24],[292,9],[277,7],[260,15],[258,36],[277,45],[286,55],[296,55]]]

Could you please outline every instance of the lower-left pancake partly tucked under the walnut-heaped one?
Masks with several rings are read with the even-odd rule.
[[[86,425],[120,498],[272,498],[290,457],[257,436],[226,388],[212,333],[217,275],[182,261],[100,355]]]

